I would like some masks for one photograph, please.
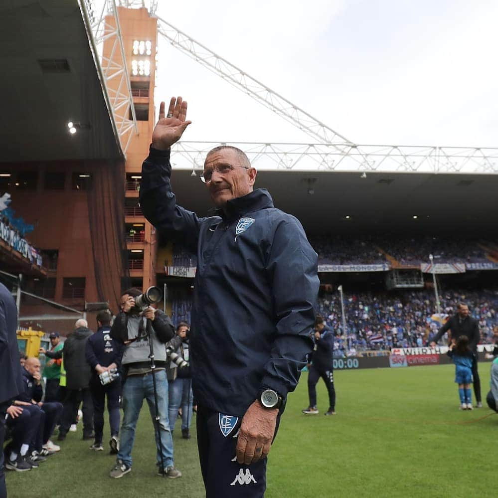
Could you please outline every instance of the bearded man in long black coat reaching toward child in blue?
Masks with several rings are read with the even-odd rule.
[[[475,353],[474,363],[472,365],[472,377],[474,382],[474,394],[476,396],[476,407],[481,408],[483,403],[481,401],[481,380],[477,370],[477,345],[481,339],[479,332],[479,322],[470,316],[469,307],[465,303],[457,305],[457,313],[448,319],[446,324],[439,329],[434,339],[431,341],[431,346],[436,346],[441,337],[448,331],[451,331],[451,338],[457,340],[461,335],[467,335],[469,338],[469,347]]]

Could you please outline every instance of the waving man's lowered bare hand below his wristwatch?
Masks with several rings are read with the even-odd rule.
[[[237,438],[239,464],[254,464],[270,453],[277,415],[277,408],[268,410],[257,400],[247,409]]]

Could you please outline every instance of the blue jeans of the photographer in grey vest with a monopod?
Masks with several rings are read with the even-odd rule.
[[[140,415],[140,409],[144,399],[147,399],[149,411],[151,412],[154,432],[156,436],[157,462],[161,466],[161,451],[163,452],[164,466],[173,465],[173,440],[168,422],[168,385],[166,371],[156,372],[156,384],[158,391],[158,407],[160,414],[161,444],[156,425],[156,408],[154,403],[154,387],[152,373],[149,375],[131,375],[127,377],[123,386],[123,424],[119,436],[118,460],[126,465],[132,465],[132,448],[135,441],[135,428]]]

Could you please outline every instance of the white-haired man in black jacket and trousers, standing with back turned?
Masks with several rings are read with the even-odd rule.
[[[76,321],[75,329],[64,342],[64,348],[57,352],[45,351],[49,358],[64,359],[66,370],[66,398],[57,441],[64,441],[71,424],[76,419],[78,407],[83,402],[83,439],[93,439],[93,404],[90,394],[92,371],[85,358],[86,341],[92,335],[88,322]]]

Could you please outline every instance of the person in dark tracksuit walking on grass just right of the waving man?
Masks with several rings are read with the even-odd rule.
[[[333,385],[333,332],[326,328],[324,319],[317,316],[314,329],[315,348],[308,358],[308,395],[310,405],[303,413],[318,414],[317,408],[317,382],[320,377],[324,379],[329,392],[329,409],[325,415],[335,415],[335,387]]]

